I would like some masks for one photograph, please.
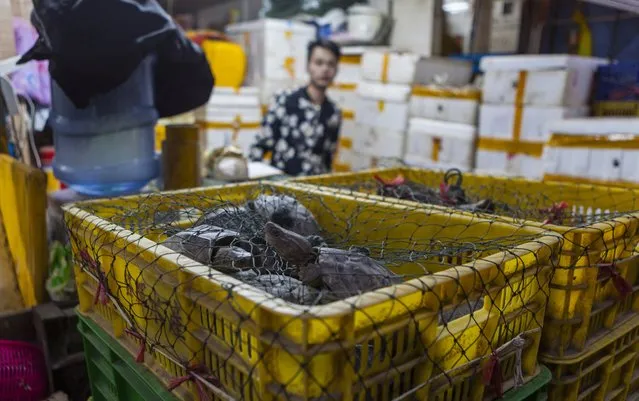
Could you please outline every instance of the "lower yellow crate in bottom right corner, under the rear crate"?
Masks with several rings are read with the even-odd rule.
[[[624,322],[575,359],[540,360],[553,375],[549,401],[626,401],[637,398],[639,317]]]

